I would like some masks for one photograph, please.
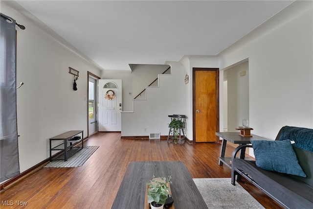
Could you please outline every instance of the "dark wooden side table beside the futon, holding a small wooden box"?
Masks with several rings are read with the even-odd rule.
[[[227,141],[230,141],[234,144],[249,144],[251,143],[251,140],[270,140],[270,139],[266,139],[257,135],[252,134],[252,137],[242,137],[240,136],[239,132],[216,132],[215,133],[216,136],[221,137],[223,139],[222,142],[222,146],[221,146],[221,153],[220,153],[220,157],[219,157],[219,165],[223,165],[223,163],[225,163],[225,165],[227,165],[229,168],[231,168],[230,165],[230,160],[231,157],[224,157],[225,156],[225,149],[226,149],[226,143]],[[246,148],[242,149],[242,152],[240,153],[240,158],[244,159],[245,158],[245,152],[246,152]]]

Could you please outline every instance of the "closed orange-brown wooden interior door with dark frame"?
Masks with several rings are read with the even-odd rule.
[[[219,131],[219,69],[193,69],[193,139],[216,142]]]

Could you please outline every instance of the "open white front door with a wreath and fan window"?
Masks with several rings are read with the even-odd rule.
[[[98,99],[98,130],[121,131],[122,80],[100,79]]]

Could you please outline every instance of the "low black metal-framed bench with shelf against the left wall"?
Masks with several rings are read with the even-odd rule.
[[[76,135],[82,135],[76,136]],[[79,150],[84,148],[84,131],[78,130],[78,131],[68,131],[66,133],[60,134],[56,137],[50,138],[50,162],[52,161],[57,161],[57,160],[64,160],[67,161],[67,158],[70,157],[71,155],[75,154]],[[52,147],[52,141],[53,140],[62,140],[63,143],[59,144],[55,147]],[[82,142],[81,147],[74,147],[76,144],[79,142]],[[69,143],[69,145],[68,145]],[[70,155],[68,156],[68,151],[71,150]],[[64,151],[64,159],[52,159],[52,151],[53,150],[59,150],[59,151]]]

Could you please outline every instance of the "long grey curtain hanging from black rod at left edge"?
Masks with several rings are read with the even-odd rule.
[[[3,182],[20,174],[15,20],[1,14],[0,34],[0,182]]]

